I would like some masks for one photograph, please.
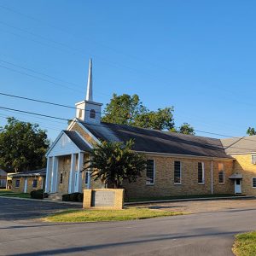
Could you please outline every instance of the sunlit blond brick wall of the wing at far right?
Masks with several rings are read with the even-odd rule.
[[[252,154],[232,155],[236,159],[234,173],[241,173],[241,193],[245,195],[256,195],[256,189],[252,187],[252,178],[256,177],[256,165],[251,163]]]

